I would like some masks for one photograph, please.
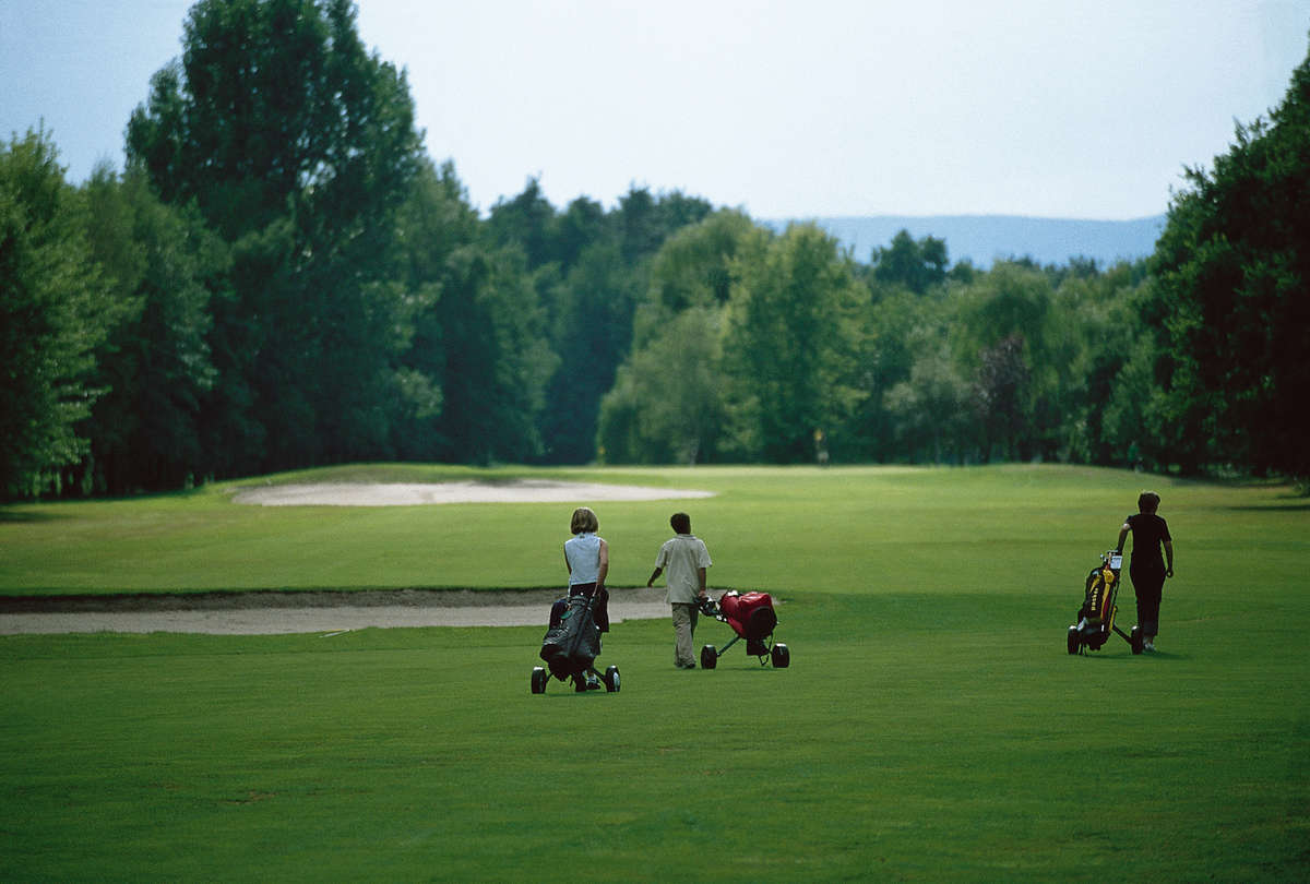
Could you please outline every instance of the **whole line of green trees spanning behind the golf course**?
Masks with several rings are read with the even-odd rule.
[[[1310,75],[1146,261],[867,262],[633,186],[486,217],[348,0],[202,0],[122,173],[0,145],[0,488],[365,460],[1057,460],[1310,475]]]

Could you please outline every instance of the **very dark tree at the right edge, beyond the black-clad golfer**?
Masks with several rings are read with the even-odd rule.
[[[1237,127],[1214,169],[1187,170],[1150,267],[1169,392],[1162,431],[1184,469],[1310,477],[1310,58],[1269,120]]]

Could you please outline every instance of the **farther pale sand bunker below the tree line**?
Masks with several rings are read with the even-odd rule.
[[[578,503],[713,498],[713,491],[523,479],[427,485],[324,482],[240,488],[236,503],[259,507],[417,507],[441,503]]]

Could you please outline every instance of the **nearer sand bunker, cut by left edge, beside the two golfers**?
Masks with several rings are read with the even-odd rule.
[[[339,635],[356,629],[417,626],[546,627],[554,589],[242,592],[0,600],[0,635],[21,633],[207,633],[211,635]],[[668,617],[664,591],[613,589],[610,623]]]

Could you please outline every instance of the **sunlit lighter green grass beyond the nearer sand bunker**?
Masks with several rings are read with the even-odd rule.
[[[375,469],[384,481],[528,474],[389,465],[309,475],[363,481]],[[703,500],[593,503],[616,585],[645,583],[669,533],[668,515],[681,508],[711,545],[718,585],[859,593],[954,592],[1015,571],[1062,581],[1070,557],[1082,567],[1115,542],[1142,482],[1133,473],[1043,466],[533,474],[717,492]],[[0,595],[557,585],[574,506],[265,508],[233,506],[240,485],[0,507]],[[1272,542],[1271,530],[1296,537],[1310,512],[1277,486],[1157,485],[1162,512],[1189,555],[1248,550]],[[1189,579],[1203,576],[1191,564],[1180,559]]]

